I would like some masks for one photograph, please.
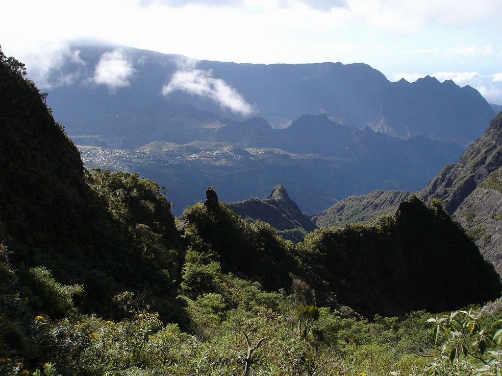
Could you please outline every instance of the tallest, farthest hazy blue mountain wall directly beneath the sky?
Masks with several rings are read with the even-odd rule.
[[[365,64],[235,64],[113,46],[73,46],[65,56],[45,77],[48,103],[70,135],[101,135],[110,146],[188,143],[252,116],[281,128],[306,113],[465,146],[494,115],[469,86],[390,82]]]

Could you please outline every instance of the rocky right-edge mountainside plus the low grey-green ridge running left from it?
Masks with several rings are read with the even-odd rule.
[[[499,112],[490,121],[485,133],[469,146],[456,163],[446,165],[424,189],[415,194],[426,202],[440,199],[445,210],[474,239],[483,257],[502,275],[502,239],[499,236],[502,219],[501,144],[502,112]],[[354,219],[366,222],[374,219],[377,213],[393,214],[396,203],[384,201],[380,212],[371,209],[375,202],[380,202],[375,194],[387,197],[390,193],[374,192],[349,197],[312,218],[318,226],[332,226]],[[397,194],[403,198],[410,196],[408,192]]]

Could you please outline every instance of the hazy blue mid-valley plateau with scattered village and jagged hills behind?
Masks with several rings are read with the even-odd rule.
[[[206,186],[214,186],[222,201],[236,202],[267,197],[267,187],[278,183],[312,215],[350,195],[417,191],[462,152],[424,136],[403,140],[369,127],[343,126],[325,114],[303,115],[286,129],[252,118],[211,128],[206,138],[212,141],[153,142],[120,152],[79,147],[87,167],[121,166],[159,181],[168,188],[176,215],[199,201]]]

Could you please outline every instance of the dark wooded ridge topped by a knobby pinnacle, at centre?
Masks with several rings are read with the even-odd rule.
[[[260,282],[267,290],[288,288],[297,270],[293,245],[262,221],[248,223],[218,202],[211,187],[207,200],[183,213],[192,249],[211,255],[225,273]]]

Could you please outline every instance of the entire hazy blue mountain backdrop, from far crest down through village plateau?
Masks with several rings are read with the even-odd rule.
[[[45,77],[47,103],[85,166],[155,179],[176,216],[206,186],[238,202],[282,184],[309,215],[351,195],[418,191],[494,115],[468,86],[393,83],[365,64],[234,64],[113,46],[64,57]]]

